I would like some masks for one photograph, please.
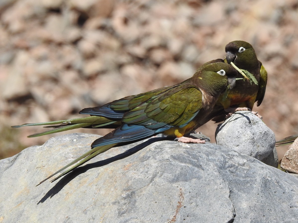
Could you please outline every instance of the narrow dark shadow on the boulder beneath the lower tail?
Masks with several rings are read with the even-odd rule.
[[[116,156],[113,156],[111,158],[107,158],[105,160],[101,160],[101,161],[97,161],[95,163],[91,163],[91,164],[86,164],[82,167],[77,167],[76,169],[74,169],[73,171],[69,172],[68,174],[66,174],[63,178],[61,178],[58,183],[55,184],[55,186],[53,186],[45,195],[43,198],[41,198],[41,200],[37,203],[43,203],[45,202],[48,198],[52,198],[53,196],[55,196],[56,194],[58,194],[58,192],[67,184],[69,183],[71,180],[73,180],[74,178],[76,178],[78,175],[86,172],[89,169],[92,168],[97,168],[97,167],[102,167],[105,166],[107,164],[110,164],[114,161],[126,158],[128,156],[131,156],[132,154],[138,152],[139,150],[145,148],[146,146],[152,144],[153,142],[158,142],[158,141],[163,141],[163,140],[173,140],[174,138],[172,137],[155,137],[155,138],[151,138],[148,139],[145,142],[140,143],[139,145],[136,145],[128,150],[126,150],[124,153],[120,153]]]

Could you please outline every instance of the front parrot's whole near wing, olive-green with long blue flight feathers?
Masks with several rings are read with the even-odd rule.
[[[122,125],[95,140],[91,147],[134,142],[173,127],[183,128],[202,108],[202,94],[191,84],[176,85],[155,95],[122,118]]]

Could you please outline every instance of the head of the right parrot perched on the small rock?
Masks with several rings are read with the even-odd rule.
[[[238,68],[246,70],[256,64],[257,56],[252,45],[245,41],[233,41],[226,45],[226,60]]]

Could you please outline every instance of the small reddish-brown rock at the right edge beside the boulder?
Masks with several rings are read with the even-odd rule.
[[[281,160],[280,167],[298,174],[298,138],[295,139],[285,156]]]

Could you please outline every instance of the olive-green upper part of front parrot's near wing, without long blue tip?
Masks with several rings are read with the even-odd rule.
[[[125,113],[122,122],[161,132],[187,125],[201,108],[201,91],[193,84],[181,83]]]

